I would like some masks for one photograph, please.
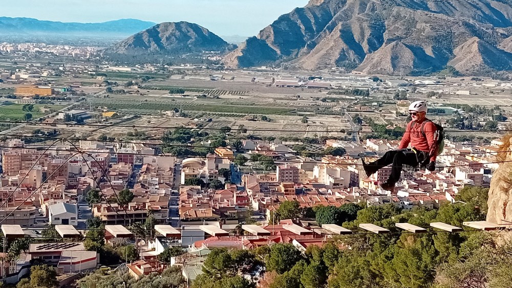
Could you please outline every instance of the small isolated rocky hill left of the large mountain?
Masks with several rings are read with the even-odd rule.
[[[202,51],[228,51],[233,45],[208,29],[188,22],[165,22],[119,42],[107,53],[185,54]]]

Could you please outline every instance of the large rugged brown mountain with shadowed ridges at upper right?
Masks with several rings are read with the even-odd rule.
[[[365,74],[512,70],[512,0],[311,0],[228,54],[228,67],[286,64]]]

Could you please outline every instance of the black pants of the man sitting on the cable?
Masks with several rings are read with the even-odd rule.
[[[411,149],[391,150],[388,151],[377,161],[369,163],[368,166],[372,173],[377,172],[379,169],[386,167],[390,164],[391,175],[389,176],[388,183],[397,183],[402,173],[403,165],[417,167],[420,163],[429,157],[429,153],[425,151],[416,151]]]

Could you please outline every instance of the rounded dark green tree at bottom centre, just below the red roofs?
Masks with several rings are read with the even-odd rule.
[[[302,260],[302,253],[291,244],[274,244],[270,247],[267,270],[283,274],[290,270],[295,263]]]

